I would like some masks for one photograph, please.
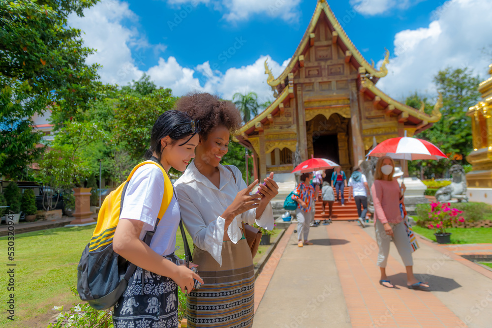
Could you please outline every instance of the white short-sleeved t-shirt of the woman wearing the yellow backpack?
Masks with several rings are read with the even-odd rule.
[[[147,231],[154,230],[163,195],[162,171],[154,164],[139,167],[126,188],[120,219],[144,222],[140,240],[144,239]],[[162,256],[174,252],[180,218],[180,207],[174,195],[152,238],[150,247],[154,252]]]

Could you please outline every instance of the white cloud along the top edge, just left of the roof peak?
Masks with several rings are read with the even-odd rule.
[[[266,14],[279,17],[286,22],[298,22],[301,0],[168,0],[170,4],[196,7],[199,3],[211,5],[217,11],[224,12],[228,22],[247,20],[252,15]]]

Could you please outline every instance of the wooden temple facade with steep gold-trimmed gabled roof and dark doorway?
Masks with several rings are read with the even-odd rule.
[[[438,121],[442,101],[426,114],[423,107],[406,106],[375,86],[386,76],[388,62],[388,51],[379,69],[365,60],[326,0],[319,0],[280,76],[275,78],[265,61],[275,101],[236,136],[253,152],[255,176],[290,173],[296,150],[301,160],[328,158],[349,173],[364,160],[374,137],[379,143],[405,130],[413,136]]]

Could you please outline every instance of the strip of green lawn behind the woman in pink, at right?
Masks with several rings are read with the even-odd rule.
[[[434,230],[414,226],[413,231],[435,241]],[[453,244],[475,244],[492,242],[492,228],[449,228]]]

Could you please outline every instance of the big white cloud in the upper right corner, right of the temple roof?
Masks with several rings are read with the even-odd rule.
[[[486,76],[491,59],[481,50],[492,44],[492,1],[450,0],[433,15],[436,20],[428,28],[395,35],[396,57],[377,84],[392,97],[401,100],[416,90],[435,95],[432,79],[449,66],[469,67],[474,74]]]

